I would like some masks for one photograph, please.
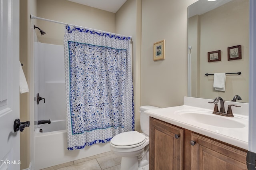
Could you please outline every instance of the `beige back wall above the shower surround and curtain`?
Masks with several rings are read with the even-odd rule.
[[[67,0],[37,0],[37,17],[115,32],[114,13]],[[40,36],[37,30],[39,42],[63,45],[65,25],[43,20],[37,22],[37,26],[46,32],[44,36]]]

